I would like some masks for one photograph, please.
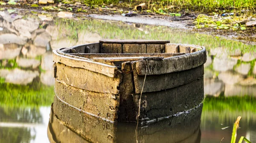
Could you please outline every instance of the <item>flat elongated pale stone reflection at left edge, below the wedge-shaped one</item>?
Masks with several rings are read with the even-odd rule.
[[[28,38],[23,36],[17,36],[15,34],[1,34],[0,44],[16,43],[18,45],[25,45]]]

